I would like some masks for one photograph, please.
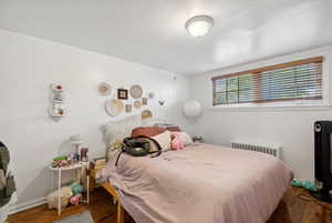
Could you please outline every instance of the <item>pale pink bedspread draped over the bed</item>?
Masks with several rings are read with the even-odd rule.
[[[271,155],[211,144],[114,160],[98,174],[136,223],[264,223],[292,178]]]

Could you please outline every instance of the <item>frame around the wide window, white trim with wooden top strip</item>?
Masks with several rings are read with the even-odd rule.
[[[299,100],[298,100],[298,98],[292,98],[292,99],[259,100],[256,102],[240,102],[240,103],[236,102],[236,103],[227,103],[227,104],[214,104],[214,102],[215,102],[214,101],[214,93],[215,93],[215,91],[214,91],[215,83],[214,82],[215,82],[215,80],[230,78],[230,77],[239,77],[239,75],[249,74],[249,73],[255,74],[257,72],[263,72],[263,71],[268,71],[268,70],[299,65],[299,64],[304,64],[304,63],[310,63],[310,62],[322,62],[322,97],[313,97],[313,98],[299,99]],[[211,95],[210,97],[210,104],[211,104],[210,108],[211,109],[315,108],[319,110],[330,109],[330,104],[331,104],[331,102],[330,102],[331,93],[330,93],[330,84],[329,84],[329,81],[330,81],[329,71],[330,70],[331,70],[331,68],[330,68],[329,57],[326,57],[326,54],[324,54],[324,53],[320,53],[317,57],[307,57],[305,59],[291,60],[291,62],[272,63],[271,65],[266,65],[266,67],[261,67],[261,68],[253,68],[253,69],[248,69],[245,71],[227,72],[226,74],[221,74],[221,75],[220,74],[212,75],[210,79],[211,92],[212,92],[210,94]],[[257,90],[257,88],[255,88],[252,90]]]

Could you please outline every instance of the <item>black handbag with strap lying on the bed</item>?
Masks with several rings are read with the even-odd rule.
[[[151,151],[151,143],[156,145],[157,151]],[[147,154],[155,154],[152,158],[156,158],[162,153],[162,148],[159,143],[148,136],[139,135],[136,138],[125,138],[123,140],[123,146],[117,155],[115,165],[117,166],[121,154],[125,152],[133,156],[145,156]]]

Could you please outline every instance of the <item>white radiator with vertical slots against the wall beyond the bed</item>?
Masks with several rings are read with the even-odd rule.
[[[268,143],[255,143],[241,140],[234,140],[230,142],[230,146],[237,150],[250,150],[256,152],[262,152],[281,159],[281,146],[278,144]]]

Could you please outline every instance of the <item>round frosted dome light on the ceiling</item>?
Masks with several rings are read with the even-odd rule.
[[[193,37],[206,36],[214,26],[214,19],[209,16],[196,16],[186,22],[186,29]]]

